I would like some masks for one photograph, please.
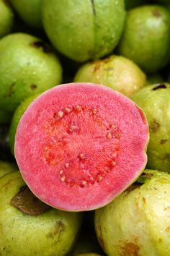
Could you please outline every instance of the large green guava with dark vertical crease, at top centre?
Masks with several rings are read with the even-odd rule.
[[[42,22],[53,46],[75,61],[99,59],[117,46],[124,0],[43,0]]]

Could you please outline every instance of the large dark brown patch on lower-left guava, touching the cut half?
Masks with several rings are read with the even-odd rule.
[[[27,186],[22,187],[17,195],[12,197],[10,205],[30,216],[38,216],[50,210],[50,206],[35,197]]]

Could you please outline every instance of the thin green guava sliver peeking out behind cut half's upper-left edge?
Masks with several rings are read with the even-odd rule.
[[[14,114],[12,116],[12,120],[9,127],[9,147],[12,151],[12,154],[14,155],[14,140],[15,140],[15,133],[17,130],[17,126],[19,123],[19,120],[21,119],[22,115],[24,114],[24,111],[26,111],[27,107],[32,103],[32,101],[37,98],[39,94],[32,95],[29,98],[26,98],[22,103],[16,108],[14,111]]]

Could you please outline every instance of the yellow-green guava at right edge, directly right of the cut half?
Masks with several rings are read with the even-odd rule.
[[[148,85],[138,90],[132,99],[143,108],[150,132],[148,168],[170,172],[170,85]]]

